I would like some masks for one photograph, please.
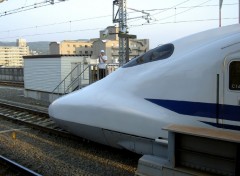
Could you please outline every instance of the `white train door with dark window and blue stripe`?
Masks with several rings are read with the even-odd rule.
[[[220,118],[223,128],[240,130],[240,53],[224,61],[223,105]]]

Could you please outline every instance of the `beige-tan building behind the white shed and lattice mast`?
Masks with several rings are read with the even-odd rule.
[[[105,34],[107,30],[107,35]],[[100,38],[88,41],[64,40],[60,43],[51,42],[49,44],[50,54],[77,54],[90,55],[91,59],[97,59],[100,50],[105,50],[108,63],[118,63],[119,59],[119,28],[109,26],[106,30],[100,31]],[[129,57],[130,59],[139,56],[149,50],[149,39],[130,39]]]

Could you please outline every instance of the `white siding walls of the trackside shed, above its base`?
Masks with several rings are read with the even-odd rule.
[[[83,60],[81,56],[24,57],[24,88],[51,93],[71,72],[73,63],[83,63]],[[69,78],[65,86],[70,81]],[[63,91],[63,87],[60,91]]]

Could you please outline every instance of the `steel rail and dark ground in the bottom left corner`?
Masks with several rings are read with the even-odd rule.
[[[0,175],[41,176],[40,174],[0,155]]]

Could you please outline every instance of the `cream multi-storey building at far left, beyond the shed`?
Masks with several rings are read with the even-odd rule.
[[[0,46],[0,66],[23,66],[23,56],[29,55],[29,47],[25,39],[18,39],[16,45],[17,46]]]

